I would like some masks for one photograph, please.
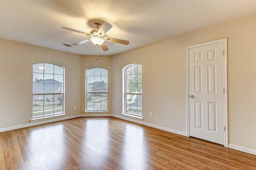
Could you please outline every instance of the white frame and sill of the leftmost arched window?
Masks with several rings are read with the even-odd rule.
[[[34,96],[34,95],[60,95],[60,94],[62,94],[62,113],[56,114],[56,115],[54,114],[54,115],[47,115],[47,116],[41,116],[41,117],[34,117],[33,116],[33,111],[32,111],[32,119],[30,119],[30,122],[42,121],[42,120],[46,120],[46,119],[52,119],[52,118],[55,118],[55,117],[65,116],[66,115],[65,114],[65,67],[63,67],[62,65],[58,65],[58,64],[55,64],[55,63],[48,63],[48,62],[33,63],[32,67],[33,67],[33,65],[36,65],[36,64],[52,64],[52,65],[56,65],[58,67],[61,67],[63,69],[63,72],[62,72],[62,81],[63,81],[62,82],[62,93],[33,93],[33,89],[32,89],[32,96]],[[38,73],[38,72],[34,72],[34,70],[32,68],[32,74],[33,73]],[[48,73],[43,73],[43,74],[48,74]],[[61,74],[54,74],[53,73],[53,75],[61,75]],[[32,110],[33,110],[33,104],[32,104]]]

